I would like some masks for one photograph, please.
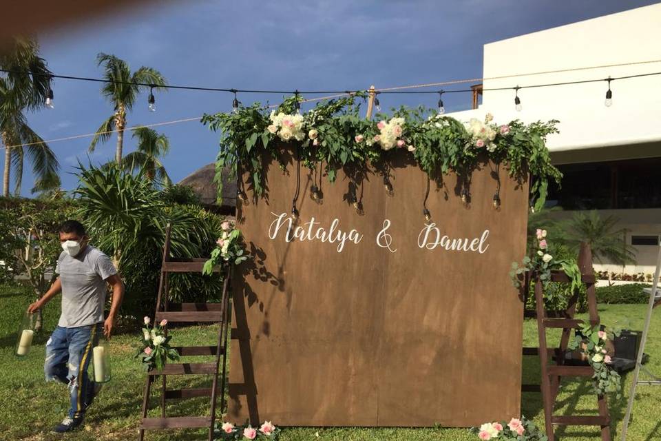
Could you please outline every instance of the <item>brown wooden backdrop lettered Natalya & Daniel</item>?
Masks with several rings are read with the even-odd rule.
[[[314,217],[328,229],[337,218],[342,232],[356,229],[361,241],[342,252],[337,243],[286,242],[284,227],[269,237],[274,214],[291,212],[292,156],[287,172],[268,167],[266,198],[252,198],[246,184],[251,201],[238,206],[238,227],[254,258],[233,279],[230,420],[468,427],[519,416],[523,305],[508,272],[525,254],[527,183],[501,167],[496,210],[492,163],[472,173],[469,205],[456,175],[440,189],[432,181],[430,222],[440,235],[472,240],[488,230],[488,247],[421,248],[427,177],[407,152],[392,153],[392,196],[381,174],[339,172],[334,184],[322,180],[319,205],[300,165],[297,225]],[[386,219],[395,252],[377,245]]]

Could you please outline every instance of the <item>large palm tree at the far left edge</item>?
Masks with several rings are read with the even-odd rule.
[[[39,44],[33,39],[15,38],[12,47],[0,54],[0,141],[5,146],[3,196],[9,196],[10,170],[16,176],[14,192],[20,194],[25,156],[32,163],[35,188],[47,190],[59,186],[59,163],[41,136],[28,125],[25,110],[45,105],[50,90],[50,70],[39,57]]]

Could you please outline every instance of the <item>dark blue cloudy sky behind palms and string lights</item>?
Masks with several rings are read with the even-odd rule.
[[[56,74],[100,77],[96,54],[125,59],[133,70],[147,65],[173,85],[277,90],[353,90],[476,78],[482,47],[517,35],[620,12],[654,1],[463,0],[463,1],[153,1],[147,6],[39,36],[41,54]],[[60,79],[55,109],[30,114],[44,139],[96,131],[112,113],[98,83]],[[221,92],[170,90],[147,94],[128,116],[128,125],[158,123],[231,109]],[[280,96],[242,94],[243,103],[277,103]],[[435,95],[379,96],[383,107],[436,105]],[[469,94],[444,99],[448,111],[470,107]],[[163,160],[174,181],[213,162],[218,134],[197,121],[157,127],[169,136]],[[91,138],[50,143],[61,163],[65,189],[76,187],[78,158],[103,163],[114,155],[116,138],[87,153]],[[134,150],[129,133],[125,154]],[[34,183],[25,165],[22,194]],[[13,188],[13,185],[12,185]]]

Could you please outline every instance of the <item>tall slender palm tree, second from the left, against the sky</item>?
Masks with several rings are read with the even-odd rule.
[[[158,70],[145,68],[145,66],[131,73],[126,61],[103,52],[96,56],[96,64],[103,65],[103,79],[107,82],[104,83],[101,93],[114,105],[115,112],[96,130],[90,144],[90,152],[94,152],[98,141],[107,141],[110,139],[110,134],[116,130],[115,161],[120,164],[127,112],[133,108],[141,90],[148,89],[150,86],[154,89],[162,89],[162,86],[165,86],[165,78]],[[140,83],[140,85],[135,83]]]

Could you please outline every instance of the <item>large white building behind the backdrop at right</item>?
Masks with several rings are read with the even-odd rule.
[[[560,120],[560,134],[547,145],[565,178],[549,203],[565,209],[560,216],[598,209],[618,217],[637,252],[637,265],[624,269],[629,274],[653,273],[661,235],[661,75],[612,81],[610,107],[607,81],[523,88],[521,112],[514,90],[488,89],[661,72],[660,41],[656,4],[485,44],[482,103],[452,114],[463,121],[487,112],[496,122]],[[654,62],[641,63],[647,61]]]

